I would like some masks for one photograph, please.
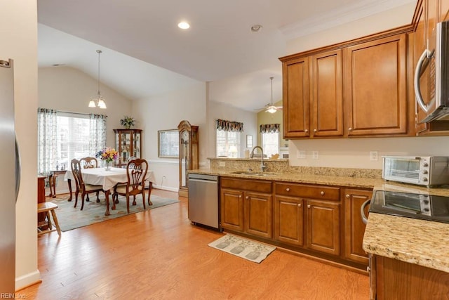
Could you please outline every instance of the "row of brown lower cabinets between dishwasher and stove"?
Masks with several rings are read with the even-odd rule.
[[[221,226],[364,269],[360,207],[372,190],[220,178]],[[368,212],[368,211],[367,211]]]

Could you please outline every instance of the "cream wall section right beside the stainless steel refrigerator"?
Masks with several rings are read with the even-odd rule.
[[[1,1],[0,59],[14,60],[15,132],[22,176],[15,206],[15,288],[40,280],[37,270],[37,8],[36,0]],[[2,270],[0,270],[1,272]]]

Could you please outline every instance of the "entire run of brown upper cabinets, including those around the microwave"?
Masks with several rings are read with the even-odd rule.
[[[448,11],[449,0],[418,0],[410,25],[279,58],[283,137],[449,135],[449,123],[418,123],[413,90],[417,61]],[[423,98],[434,91],[429,69]]]

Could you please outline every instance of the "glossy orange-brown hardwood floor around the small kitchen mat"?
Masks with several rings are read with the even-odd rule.
[[[208,247],[223,233],[192,226],[187,199],[180,201],[60,238],[39,236],[42,282],[17,294],[44,300],[369,298],[367,275],[279,249],[259,264]]]

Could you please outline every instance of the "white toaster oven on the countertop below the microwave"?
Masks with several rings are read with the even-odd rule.
[[[383,156],[382,178],[428,188],[449,184],[449,157]]]

